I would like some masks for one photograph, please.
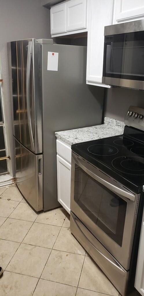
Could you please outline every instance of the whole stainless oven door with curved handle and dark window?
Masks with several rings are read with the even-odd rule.
[[[71,211],[129,270],[140,194],[72,152]]]

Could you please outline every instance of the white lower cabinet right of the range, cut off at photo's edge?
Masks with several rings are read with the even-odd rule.
[[[142,228],[140,233],[140,245],[137,259],[137,270],[135,276],[135,288],[141,295],[144,296],[144,211]]]

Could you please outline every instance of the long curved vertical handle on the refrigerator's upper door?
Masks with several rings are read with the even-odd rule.
[[[28,42],[28,56],[26,65],[26,104],[28,113],[28,128],[30,133],[31,148],[34,151],[33,131],[31,125],[31,110],[30,110],[30,67],[31,67],[31,55],[32,55],[32,41]]]

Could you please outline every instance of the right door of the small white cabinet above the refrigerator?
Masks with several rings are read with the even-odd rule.
[[[66,31],[87,28],[87,0],[66,2]]]

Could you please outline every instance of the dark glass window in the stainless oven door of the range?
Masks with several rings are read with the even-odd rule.
[[[100,229],[122,245],[127,202],[76,164],[74,200]]]

